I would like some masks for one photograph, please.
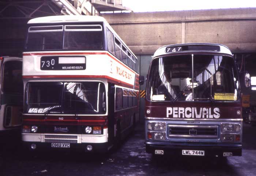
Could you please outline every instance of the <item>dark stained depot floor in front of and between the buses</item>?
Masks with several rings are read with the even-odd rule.
[[[143,124],[115,152],[107,155],[44,152],[21,155],[19,146],[8,146],[0,154],[0,176],[77,175],[189,175],[252,176],[256,174],[256,126],[244,124],[242,157],[226,160],[166,156],[161,159],[145,152]],[[7,145],[4,145],[7,146]]]

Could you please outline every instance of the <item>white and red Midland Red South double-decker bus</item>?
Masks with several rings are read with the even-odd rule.
[[[103,17],[28,22],[23,52],[25,148],[106,152],[139,120],[139,68]]]

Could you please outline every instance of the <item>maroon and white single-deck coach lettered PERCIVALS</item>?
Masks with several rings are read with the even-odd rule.
[[[148,153],[242,155],[240,82],[229,48],[208,43],[159,48],[146,91]]]

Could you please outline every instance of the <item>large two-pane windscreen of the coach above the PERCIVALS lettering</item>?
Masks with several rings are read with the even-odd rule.
[[[175,55],[152,61],[147,87],[150,101],[238,101],[233,58],[222,55]]]

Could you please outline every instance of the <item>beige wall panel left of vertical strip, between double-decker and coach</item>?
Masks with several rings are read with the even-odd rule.
[[[135,54],[153,54],[159,47],[181,43],[181,23],[111,25]]]

